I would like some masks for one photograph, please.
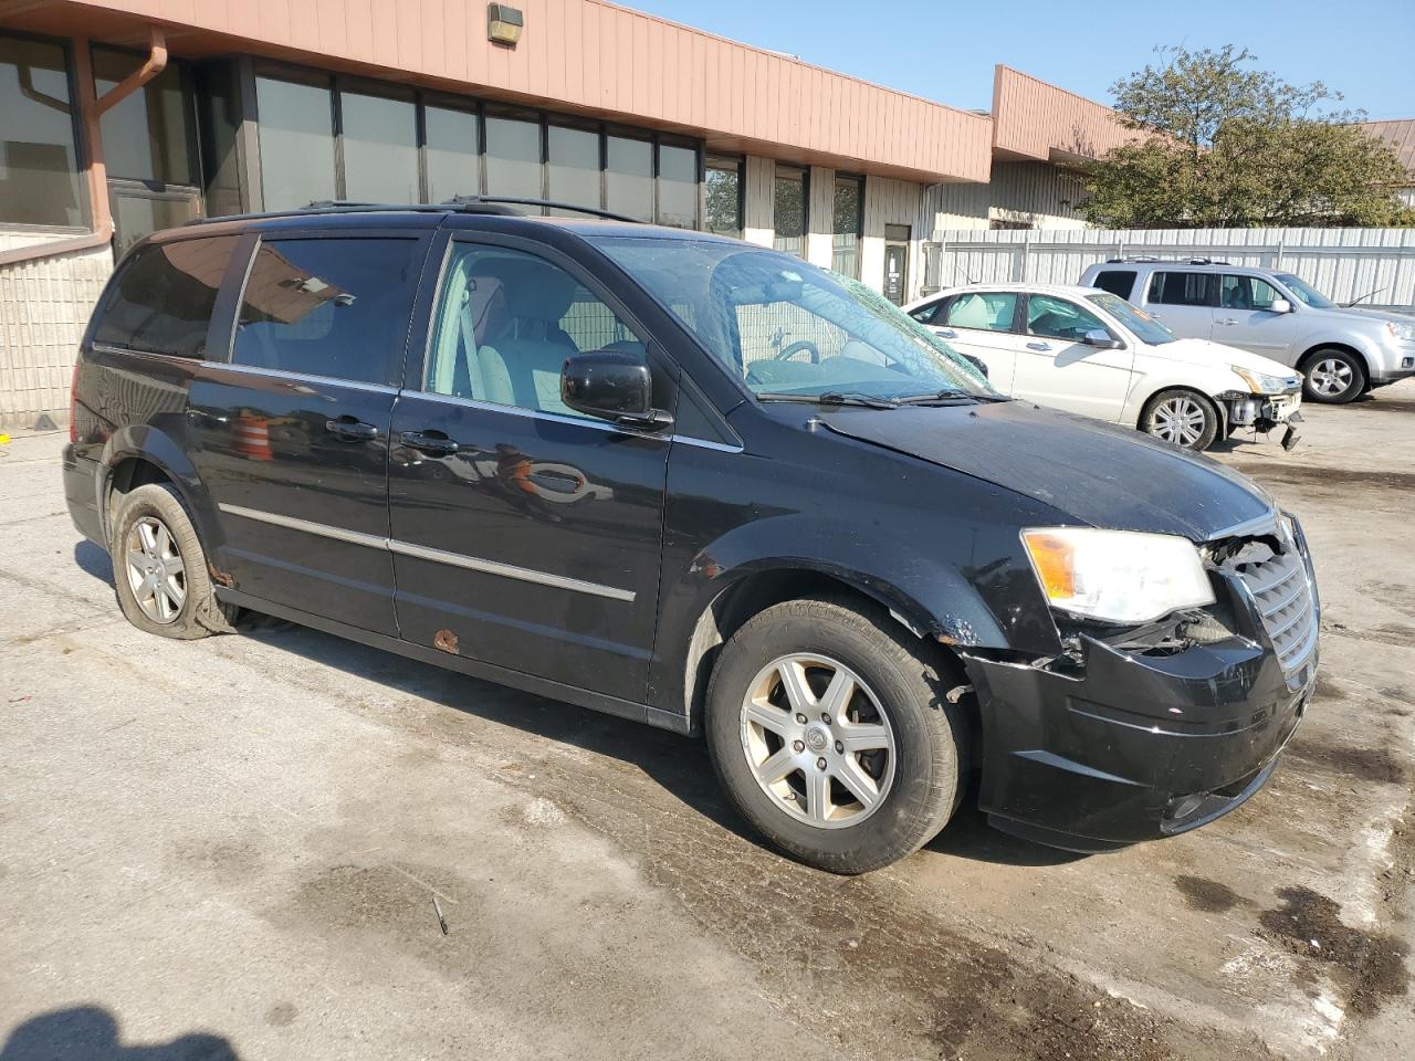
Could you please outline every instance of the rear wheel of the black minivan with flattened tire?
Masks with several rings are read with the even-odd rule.
[[[216,600],[207,553],[171,487],[149,482],[119,499],[109,555],[117,604],[139,630],[191,641],[235,628],[238,610]]]

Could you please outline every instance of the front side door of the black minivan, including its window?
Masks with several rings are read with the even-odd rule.
[[[572,412],[560,368],[590,349],[648,358],[642,334],[525,243],[450,240],[432,313],[392,427],[402,637],[641,703],[669,440]]]

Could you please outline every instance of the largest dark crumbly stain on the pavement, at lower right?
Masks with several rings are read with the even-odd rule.
[[[1340,973],[1347,1004],[1370,1016],[1388,999],[1409,987],[1402,939],[1384,932],[1363,932],[1341,924],[1341,907],[1310,888],[1281,888],[1282,907],[1258,918],[1262,931],[1292,953],[1320,962]]]

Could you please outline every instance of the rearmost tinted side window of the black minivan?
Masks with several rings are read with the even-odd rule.
[[[236,236],[149,243],[119,273],[93,342],[174,358],[205,358],[207,328]]]

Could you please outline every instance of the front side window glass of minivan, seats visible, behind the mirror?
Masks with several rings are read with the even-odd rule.
[[[508,248],[453,243],[424,390],[580,416],[560,400],[560,369],[591,349],[647,358],[628,325],[559,266]]]

